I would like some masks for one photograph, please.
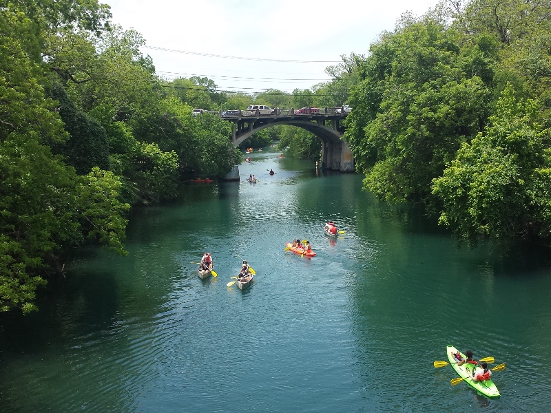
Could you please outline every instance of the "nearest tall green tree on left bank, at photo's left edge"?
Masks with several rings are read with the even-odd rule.
[[[0,310],[28,313],[65,248],[95,240],[121,252],[125,221],[114,191],[81,214],[101,194],[50,151],[68,136],[44,94],[43,66],[28,50],[40,43],[37,25],[8,6],[0,14]]]

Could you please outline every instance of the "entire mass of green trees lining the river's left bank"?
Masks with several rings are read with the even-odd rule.
[[[35,310],[74,247],[125,254],[126,213],[223,177],[240,153],[205,78],[155,76],[141,35],[96,0],[0,1],[0,310]],[[178,83],[178,82],[176,82]],[[250,99],[250,97],[249,97]]]

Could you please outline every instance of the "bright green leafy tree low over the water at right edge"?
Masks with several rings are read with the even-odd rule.
[[[480,236],[551,240],[550,130],[534,101],[506,87],[490,125],[464,143],[443,176],[433,180],[442,202],[439,222],[475,246]]]

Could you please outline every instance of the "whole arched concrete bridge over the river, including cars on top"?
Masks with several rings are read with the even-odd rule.
[[[331,108],[312,109],[274,109],[272,114],[242,114],[241,111],[220,112],[220,116],[229,120],[231,125],[231,142],[238,147],[252,134],[275,125],[302,127],[318,136],[323,142],[322,165],[328,169],[341,172],[354,171],[352,151],[342,140],[344,133],[343,120],[340,114]]]

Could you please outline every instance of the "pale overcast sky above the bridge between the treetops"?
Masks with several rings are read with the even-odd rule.
[[[218,90],[293,92],[330,80],[341,55],[368,55],[401,14],[435,0],[103,0],[112,21],[145,39],[166,79],[207,77]]]

